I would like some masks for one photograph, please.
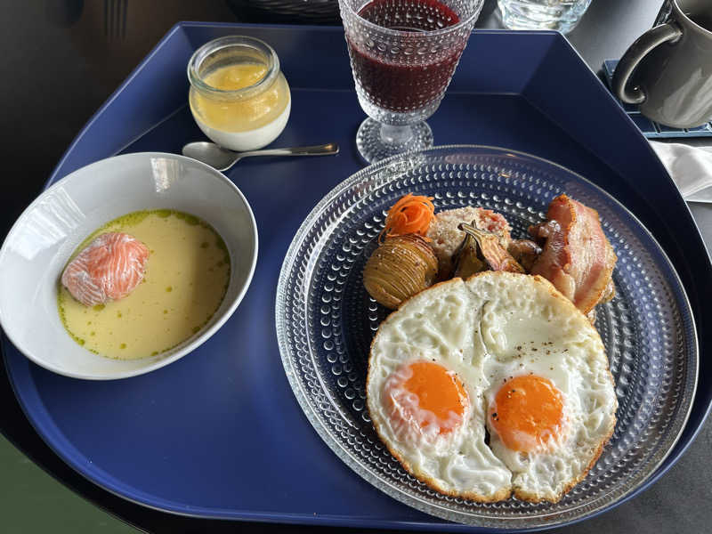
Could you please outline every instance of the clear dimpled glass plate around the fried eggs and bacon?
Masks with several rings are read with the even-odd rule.
[[[611,362],[618,424],[602,456],[559,503],[510,498],[480,504],[430,490],[378,436],[366,409],[368,347],[387,314],[361,271],[386,211],[406,192],[436,210],[483,206],[506,216],[513,237],[545,218],[566,192],[600,214],[619,257],[617,295],[595,326]],[[388,158],[341,182],[299,228],[279,275],[279,351],[297,401],[317,433],[360,476],[428,514],[482,528],[530,530],[576,522],[626,498],[675,446],[692,408],[698,344],[676,271],[633,214],[585,178],[514,150],[447,146]]]

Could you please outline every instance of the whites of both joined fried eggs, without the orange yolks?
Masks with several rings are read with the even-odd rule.
[[[418,360],[439,363],[465,387],[470,407],[452,433],[403,433],[389,416],[389,376]],[[561,432],[529,453],[507,449],[486,416],[501,384],[523,374],[548,378],[563,398]],[[477,501],[512,492],[558,500],[595,463],[617,409],[603,343],[586,317],[546,279],[502,271],[443,282],[393,312],[371,346],[367,401],[377,433],[410,473]]]

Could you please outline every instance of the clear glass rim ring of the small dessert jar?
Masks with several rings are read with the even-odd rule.
[[[263,53],[267,60],[267,73],[255,84],[247,85],[240,89],[218,89],[208,85],[199,74],[200,66],[214,53],[219,53],[229,48],[246,48]],[[198,91],[211,94],[219,98],[239,99],[255,93],[260,93],[263,89],[271,86],[272,82],[279,75],[279,57],[274,49],[261,39],[250,36],[225,36],[208,41],[190,56],[188,61],[188,81],[190,85]]]

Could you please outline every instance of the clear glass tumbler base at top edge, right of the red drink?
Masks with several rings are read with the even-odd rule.
[[[591,0],[498,0],[502,22],[510,29],[557,29],[569,33]]]

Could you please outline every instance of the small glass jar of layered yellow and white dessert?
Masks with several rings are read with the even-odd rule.
[[[212,141],[256,150],[287,125],[292,105],[287,79],[269,44],[227,36],[203,44],[188,62],[190,111]]]

